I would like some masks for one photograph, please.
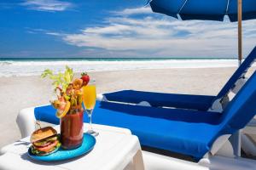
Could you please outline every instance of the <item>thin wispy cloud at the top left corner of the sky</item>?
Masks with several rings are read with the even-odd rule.
[[[64,11],[67,8],[73,6],[72,3],[59,1],[59,0],[26,0],[24,3],[20,3],[22,6],[26,6],[29,9],[39,11]]]

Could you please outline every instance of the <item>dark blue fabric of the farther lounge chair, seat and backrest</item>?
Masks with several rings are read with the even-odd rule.
[[[220,90],[217,96],[209,95],[189,95],[189,94],[161,94],[154,92],[143,92],[135,90],[123,90],[119,92],[113,92],[109,94],[103,94],[108,101],[118,101],[124,103],[138,104],[142,101],[147,101],[154,107],[175,107],[183,109],[192,109],[198,111],[207,111],[212,103],[216,99],[221,99],[230,92],[230,89],[234,87],[236,81],[244,77],[248,68],[253,65],[256,59],[256,47],[242,62],[236,72],[230,77],[230,80],[226,82],[224,88]]]

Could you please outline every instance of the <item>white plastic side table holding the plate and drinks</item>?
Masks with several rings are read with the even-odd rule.
[[[87,123],[84,123],[84,127],[88,127]],[[144,169],[141,146],[130,130],[103,125],[93,125],[93,128],[100,134],[96,137],[95,148],[85,156],[67,161],[34,161],[26,154],[30,146],[30,137],[26,137],[2,148],[0,169]],[[55,129],[58,131],[59,126]]]

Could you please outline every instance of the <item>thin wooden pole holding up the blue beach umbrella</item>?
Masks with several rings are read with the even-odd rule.
[[[237,0],[237,20],[238,20],[238,64],[241,65],[242,48],[241,48],[241,0]]]

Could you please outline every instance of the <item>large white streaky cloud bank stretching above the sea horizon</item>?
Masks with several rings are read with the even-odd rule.
[[[125,11],[125,10],[124,10]],[[175,20],[171,17],[115,16],[103,26],[90,26],[79,33],[48,34],[61,36],[77,47],[102,48],[106,54],[146,57],[236,57],[237,23]],[[244,54],[255,45],[256,20],[243,22]],[[101,50],[101,54],[104,51]]]

